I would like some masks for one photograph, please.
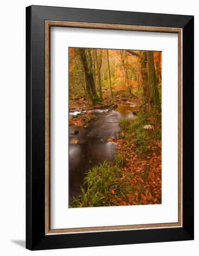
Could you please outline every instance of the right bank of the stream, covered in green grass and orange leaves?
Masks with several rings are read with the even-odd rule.
[[[135,107],[133,100],[123,101],[121,106]],[[136,113],[140,109],[136,105]],[[160,115],[146,119],[138,113],[137,119],[119,121],[119,128],[114,160],[87,170],[86,186],[71,207],[161,203]]]

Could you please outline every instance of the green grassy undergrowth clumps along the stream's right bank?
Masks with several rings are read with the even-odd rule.
[[[145,126],[151,126],[151,129],[145,129]],[[147,153],[153,140],[161,139],[161,117],[158,113],[153,113],[149,118],[138,115],[134,120],[123,119],[119,122],[119,127],[119,139],[131,141],[135,145],[135,152],[140,155]],[[134,174],[124,174],[122,170],[125,162],[123,150],[124,148],[120,148],[116,152],[113,163],[104,162],[87,171],[84,179],[86,189],[81,187],[81,195],[74,198],[71,208],[126,205],[129,197],[133,198],[132,201],[135,195],[140,198],[144,193],[142,183],[138,180],[132,185]],[[136,175],[146,178],[146,173],[136,172]],[[134,201],[133,203],[135,204]],[[141,203],[139,200],[136,204]]]

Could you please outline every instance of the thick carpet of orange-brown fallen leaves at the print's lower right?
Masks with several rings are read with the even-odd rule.
[[[125,165],[123,176],[132,175],[129,185],[134,189],[133,195],[127,193],[126,199],[118,200],[120,205],[161,203],[161,141],[153,140],[148,145],[146,154],[138,155],[130,141],[119,139],[117,149],[123,155]],[[124,200],[125,199],[125,200]]]

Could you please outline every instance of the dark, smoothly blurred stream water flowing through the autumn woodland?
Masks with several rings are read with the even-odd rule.
[[[77,144],[69,144],[69,204],[81,194],[80,186],[83,186],[83,179],[86,170],[103,163],[111,162],[114,158],[117,143],[107,141],[113,138],[117,141],[119,137],[119,121],[123,118],[135,119],[133,115],[134,105],[118,105],[115,110],[95,109],[93,115],[96,120],[91,121],[89,127],[69,127],[69,141],[77,139]],[[69,113],[72,115],[80,113]],[[73,135],[73,130],[79,131]]]

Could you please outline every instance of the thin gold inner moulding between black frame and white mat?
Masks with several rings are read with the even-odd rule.
[[[111,30],[130,30],[178,34],[178,222],[120,225],[105,227],[51,229],[50,228],[50,27],[79,27]],[[116,231],[128,229],[182,227],[182,28],[147,27],[118,24],[100,24],[68,21],[45,21],[45,235]]]

